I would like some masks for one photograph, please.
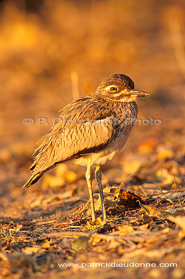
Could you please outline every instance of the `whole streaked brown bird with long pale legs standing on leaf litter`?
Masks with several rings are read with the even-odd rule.
[[[61,109],[59,118],[42,138],[33,153],[31,176],[22,188],[37,182],[49,169],[73,161],[87,167],[91,218],[95,221],[91,167],[99,189],[102,220],[106,221],[101,183],[101,165],[112,160],[125,145],[137,119],[136,97],[150,95],[134,89],[134,82],[124,74],[104,78],[91,95],[73,100]]]

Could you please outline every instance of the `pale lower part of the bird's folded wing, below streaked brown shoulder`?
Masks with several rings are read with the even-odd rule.
[[[57,127],[58,126],[58,127]],[[64,161],[103,150],[115,133],[111,118],[80,124],[55,124],[44,137],[30,168],[31,174],[42,172]]]

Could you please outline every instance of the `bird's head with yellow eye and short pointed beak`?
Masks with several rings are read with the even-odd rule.
[[[134,82],[123,74],[111,75],[103,79],[96,92],[103,97],[123,102],[131,102],[136,97],[150,95],[144,91],[134,90]]]

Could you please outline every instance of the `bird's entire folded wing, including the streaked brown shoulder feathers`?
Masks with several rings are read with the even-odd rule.
[[[105,148],[116,132],[115,123],[112,117],[103,117],[103,110],[97,106],[88,99],[61,111],[62,123],[58,121],[44,137],[30,168],[32,175]]]

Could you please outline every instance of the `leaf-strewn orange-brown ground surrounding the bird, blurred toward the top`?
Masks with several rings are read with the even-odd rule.
[[[184,6],[1,2],[0,278],[184,278]],[[102,166],[107,222],[93,179],[92,223],[84,167],[21,187],[58,111],[116,73],[151,96]]]

